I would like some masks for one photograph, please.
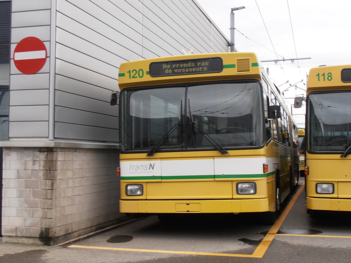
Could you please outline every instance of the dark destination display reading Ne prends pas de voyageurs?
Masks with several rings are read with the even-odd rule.
[[[164,77],[202,73],[218,73],[223,70],[223,60],[219,57],[152,62],[150,76]]]

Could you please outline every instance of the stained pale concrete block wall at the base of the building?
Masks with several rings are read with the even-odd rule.
[[[118,223],[118,150],[5,147],[4,242],[52,245]]]

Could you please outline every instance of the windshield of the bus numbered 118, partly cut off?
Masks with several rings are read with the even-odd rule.
[[[310,151],[343,152],[351,144],[351,92],[309,95]]]

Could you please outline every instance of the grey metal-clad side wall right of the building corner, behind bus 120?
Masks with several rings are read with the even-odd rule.
[[[120,63],[179,55],[182,49],[228,51],[221,33],[192,0],[57,0],[57,11],[58,139],[99,141],[92,139],[97,129],[118,129],[118,108],[108,102],[118,89]],[[66,130],[70,128],[75,133]],[[103,140],[118,140],[108,137],[112,134]]]

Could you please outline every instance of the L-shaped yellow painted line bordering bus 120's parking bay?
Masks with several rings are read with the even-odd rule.
[[[263,240],[260,242],[256,250],[252,255],[245,254],[227,254],[227,253],[208,253],[208,252],[192,252],[192,251],[172,251],[172,250],[152,250],[152,249],[133,249],[133,248],[108,248],[108,247],[91,247],[91,246],[82,246],[82,245],[70,245],[68,248],[87,248],[87,249],[102,249],[102,250],[118,250],[118,251],[137,251],[137,252],[153,252],[153,253],[168,253],[168,254],[185,254],[185,255],[203,255],[203,256],[225,256],[225,257],[255,257],[261,258],[264,256],[266,250],[270,246],[274,236],[277,235],[277,232],[281,225],[283,224],[287,214],[289,214],[291,208],[296,202],[297,198],[304,189],[304,184],[300,187],[294,197],[291,199],[289,204],[284,209],[283,213],[279,216],[277,221],[267,232]],[[284,235],[284,234],[279,234]]]

